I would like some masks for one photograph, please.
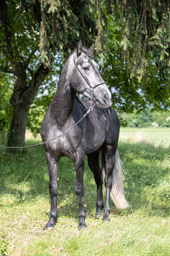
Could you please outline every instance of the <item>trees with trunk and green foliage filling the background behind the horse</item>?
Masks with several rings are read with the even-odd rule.
[[[170,107],[169,1],[2,0],[0,130],[24,145],[40,130],[64,61],[82,39],[119,113]]]

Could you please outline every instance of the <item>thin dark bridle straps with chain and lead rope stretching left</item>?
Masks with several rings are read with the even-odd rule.
[[[62,135],[66,134],[69,130],[71,130],[73,127],[75,127],[80,121],[82,121],[82,119],[84,119],[84,117],[86,117],[86,115],[88,115],[90,113],[91,110],[93,110],[94,106],[95,106],[95,98],[93,96],[93,90],[98,86],[98,85],[101,85],[105,82],[102,82],[102,83],[99,83],[95,86],[91,86],[90,83],[88,82],[88,80],[83,76],[82,72],[80,71],[80,69],[77,67],[77,64],[75,63],[75,59],[74,59],[74,55],[73,55],[73,60],[74,60],[74,64],[77,68],[77,70],[80,72],[80,74],[82,75],[82,77],[84,78],[84,80],[86,81],[86,83],[88,84],[88,86],[90,87],[90,93],[91,93],[91,99],[90,99],[90,108],[88,111],[86,111],[86,113],[84,114],[84,116],[76,123],[74,124],[71,128],[69,128],[68,130],[66,130],[66,132],[63,132],[62,134],[58,135],[57,137],[53,138],[53,139],[49,139],[49,141],[53,141],[54,139],[57,139],[59,137],[61,137]],[[94,102],[94,104],[93,104]],[[35,145],[31,145],[31,146],[25,146],[25,147],[5,147],[5,146],[1,146],[1,148],[31,148],[31,147],[36,147],[38,145],[42,145],[42,144],[45,144],[49,141],[45,141],[45,142],[42,142],[42,143],[38,143],[38,144],[35,144]]]

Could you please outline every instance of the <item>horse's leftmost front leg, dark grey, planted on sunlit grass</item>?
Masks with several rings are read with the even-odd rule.
[[[58,161],[59,158],[50,152],[46,152],[46,161],[49,171],[49,193],[51,196],[51,209],[49,213],[49,221],[45,228],[50,230],[55,226],[57,221],[57,191],[58,191]]]

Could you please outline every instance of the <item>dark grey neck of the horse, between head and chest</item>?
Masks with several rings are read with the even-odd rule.
[[[67,121],[73,112],[76,92],[69,83],[69,73],[71,69],[71,58],[66,61],[60,78],[58,80],[57,91],[51,102],[51,114],[61,126]]]

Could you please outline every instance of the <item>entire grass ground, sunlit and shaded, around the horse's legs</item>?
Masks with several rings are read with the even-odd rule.
[[[77,229],[74,163],[60,159],[58,223],[47,231],[50,201],[44,146],[17,154],[0,149],[0,255],[170,255],[168,132],[170,129],[154,129],[153,133],[152,129],[121,129],[119,151],[126,168],[124,189],[130,208],[119,211],[111,201],[110,222],[94,218],[96,186],[86,159],[88,228],[82,231]],[[167,143],[160,145],[164,136]],[[0,141],[5,144],[4,137]],[[27,135],[26,145],[38,141],[39,137]]]

